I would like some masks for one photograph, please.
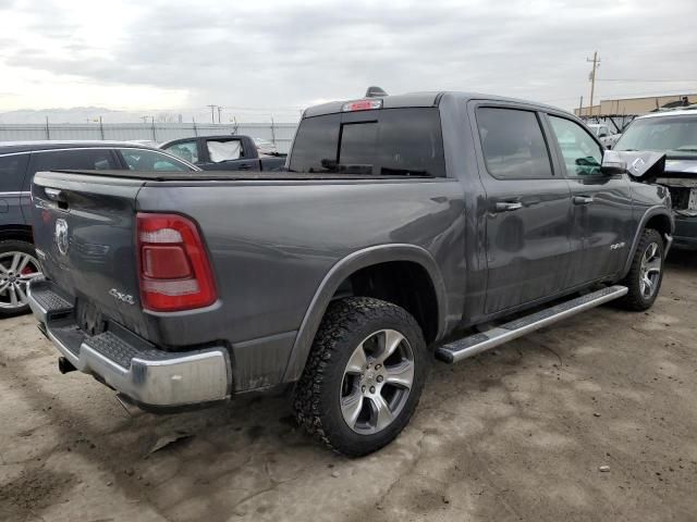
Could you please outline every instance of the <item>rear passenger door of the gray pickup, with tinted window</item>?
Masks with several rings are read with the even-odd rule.
[[[515,104],[470,104],[486,197],[485,313],[565,288],[572,256],[568,183],[542,132],[541,115]]]

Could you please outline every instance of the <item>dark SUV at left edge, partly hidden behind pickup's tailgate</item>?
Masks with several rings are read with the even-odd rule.
[[[28,311],[26,285],[40,275],[29,216],[34,174],[66,169],[200,170],[160,150],[121,141],[0,144],[0,318]]]

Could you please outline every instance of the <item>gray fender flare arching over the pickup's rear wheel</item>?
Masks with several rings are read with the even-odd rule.
[[[448,316],[445,285],[431,254],[421,247],[407,244],[364,248],[338,261],[319,284],[295,337],[283,375],[284,382],[297,381],[302,375],[327,307],[342,285],[362,271],[390,263],[409,263],[418,266],[428,276],[437,302],[436,328],[432,340],[440,339],[444,335],[445,318]]]

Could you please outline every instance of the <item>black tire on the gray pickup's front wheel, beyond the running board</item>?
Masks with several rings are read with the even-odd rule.
[[[652,287],[650,294],[646,291],[646,283],[643,283],[645,279],[646,272],[645,259],[649,253],[649,249],[656,248],[656,261],[660,266],[659,272],[652,278]],[[617,306],[635,312],[641,312],[644,310],[648,310],[653,306],[656,298],[661,289],[661,283],[663,281],[663,262],[665,257],[665,248],[663,245],[663,238],[658,231],[652,228],[646,228],[641,233],[641,238],[639,239],[639,245],[636,248],[636,252],[634,252],[634,258],[632,259],[632,266],[626,277],[620,283],[621,285],[626,286],[629,291],[626,296],[622,297],[616,301]],[[649,279],[650,281],[650,279]]]

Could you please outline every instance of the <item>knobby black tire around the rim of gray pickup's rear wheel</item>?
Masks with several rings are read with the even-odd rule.
[[[396,350],[405,348],[411,350],[414,364],[411,370],[413,372],[413,381],[407,395],[401,400],[401,407],[394,408],[396,413],[391,417],[393,419],[390,421],[391,423],[380,428],[376,426],[376,430],[378,430],[376,433],[357,433],[356,426],[358,426],[358,422],[354,422],[354,427],[352,428],[347,421],[344,420],[345,413],[342,412],[342,406],[340,405],[340,401],[344,400],[342,394],[345,393],[347,380],[358,380],[357,387],[354,385],[351,387],[355,394],[364,396],[360,399],[360,405],[363,406],[359,408],[367,409],[362,409],[360,412],[367,412],[368,418],[378,418],[379,413],[377,411],[380,410],[380,408],[377,408],[378,402],[371,400],[370,397],[365,398],[365,395],[372,390],[372,386],[368,385],[370,389],[366,390],[366,387],[360,386],[360,384],[368,383],[368,378],[380,378],[380,376],[375,377],[370,370],[366,370],[363,375],[355,376],[345,372],[348,372],[347,364],[350,359],[354,360],[353,358],[358,347],[364,346],[366,343],[371,343],[372,336],[378,339],[379,336],[387,335],[381,332],[396,332],[403,336],[406,344],[404,344],[404,340],[400,340]],[[375,343],[374,346],[379,345],[379,340]],[[383,343],[387,345],[387,337],[384,337]],[[366,357],[366,361],[368,361],[367,369],[370,368],[370,361],[378,360],[372,359],[371,355],[368,353]],[[382,364],[382,371],[384,372],[393,368],[388,364],[388,360],[389,358]],[[428,374],[429,361],[430,358],[427,353],[421,328],[404,309],[390,302],[365,297],[350,297],[334,301],[329,306],[325,314],[303,375],[295,387],[293,406],[297,422],[310,435],[335,451],[350,457],[371,453],[392,442],[408,423],[420,398]],[[406,359],[405,363],[408,364]],[[380,364],[372,364],[374,370],[377,370],[378,366]],[[388,382],[390,378],[383,377],[383,380],[378,381],[383,384],[377,394],[374,394],[374,397],[376,395],[380,396],[383,391],[389,395],[391,391],[391,388],[388,387],[392,386]],[[358,388],[363,388],[363,393]],[[396,393],[402,394],[403,391],[399,390]],[[388,401],[386,400],[381,403],[387,405]],[[394,398],[392,403],[395,403]],[[390,415],[392,415],[392,408],[390,408]],[[356,419],[359,419],[359,417],[358,414]],[[368,423],[369,419],[366,422]]]

